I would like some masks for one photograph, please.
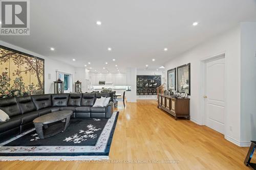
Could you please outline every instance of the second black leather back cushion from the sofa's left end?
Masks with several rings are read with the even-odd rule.
[[[22,114],[36,110],[34,103],[30,96],[16,98]]]

